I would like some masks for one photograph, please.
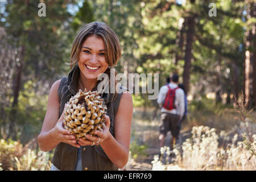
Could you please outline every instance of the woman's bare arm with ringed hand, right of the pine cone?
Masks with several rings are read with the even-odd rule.
[[[108,158],[118,168],[123,168],[129,159],[131,119],[133,118],[133,99],[129,91],[122,94],[117,114],[115,115],[115,138],[109,131],[110,121],[106,117],[106,129],[96,131],[96,135],[100,137],[100,145],[104,149]],[[80,139],[79,144],[89,145],[92,141],[98,141],[98,137],[86,135],[88,140]]]

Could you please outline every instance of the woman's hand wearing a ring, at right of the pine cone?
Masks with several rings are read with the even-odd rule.
[[[110,132],[109,132],[109,127],[110,127],[110,119],[109,119],[109,116],[108,115],[105,115],[105,119],[106,119],[106,122],[105,122],[105,125],[106,127],[104,128],[103,131],[95,131],[95,137],[92,137],[91,135],[89,134],[86,134],[86,140],[84,139],[79,139],[79,141],[77,143],[80,144],[80,146],[93,146],[94,144],[101,144],[103,143],[104,141],[108,140],[108,138],[110,137]]]

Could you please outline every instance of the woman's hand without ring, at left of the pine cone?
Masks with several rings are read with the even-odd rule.
[[[66,105],[65,105],[66,107]],[[63,113],[61,114],[59,120],[57,121],[55,127],[53,128],[53,140],[55,140],[56,142],[60,143],[68,143],[71,144],[74,147],[80,147],[79,144],[76,143],[76,137],[74,135],[72,135],[68,130],[64,129],[64,124],[63,124],[63,120],[64,120],[64,110],[65,107],[63,109]]]

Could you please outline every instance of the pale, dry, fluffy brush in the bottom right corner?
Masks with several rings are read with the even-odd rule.
[[[192,138],[182,143],[182,154],[179,148],[174,149],[175,159],[171,164],[163,164],[158,156],[152,161],[153,170],[255,170],[256,156],[247,148],[246,143],[238,141],[238,134],[225,148],[218,147],[218,138],[224,140],[228,136],[225,131],[220,135],[215,129],[206,126],[193,127]],[[253,146],[256,147],[256,134],[253,135]],[[168,152],[168,147],[165,149]],[[176,167],[176,168],[174,168]],[[177,168],[179,167],[179,168]]]

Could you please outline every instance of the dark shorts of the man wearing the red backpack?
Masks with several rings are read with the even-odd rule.
[[[179,137],[179,119],[180,116],[177,114],[161,113],[160,134],[166,135],[168,131],[171,131],[173,137]]]

